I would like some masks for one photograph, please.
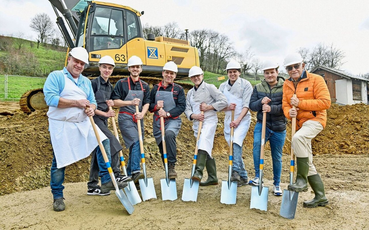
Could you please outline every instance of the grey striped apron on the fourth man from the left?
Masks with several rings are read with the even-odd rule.
[[[159,86],[160,88],[160,86]],[[158,101],[164,101],[164,111],[169,111],[170,109],[173,109],[176,107],[176,103],[173,99],[173,89],[174,84],[172,83],[172,91],[156,91],[155,95],[155,104],[157,104]],[[159,108],[158,108],[159,109]],[[181,128],[182,119],[180,117],[178,118],[164,118],[164,129],[172,130],[176,136],[179,133],[179,130]],[[152,132],[154,134],[156,144],[160,144],[162,142],[162,136],[161,136],[161,126],[160,126],[160,117],[159,112],[154,112],[153,119],[152,119]]]

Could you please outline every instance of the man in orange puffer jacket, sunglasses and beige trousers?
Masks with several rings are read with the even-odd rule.
[[[286,118],[291,120],[296,117],[297,122],[297,126],[292,127],[297,131],[291,142],[297,160],[297,176],[296,181],[288,185],[288,190],[306,192],[309,182],[315,197],[304,201],[304,207],[325,206],[329,202],[325,197],[323,182],[313,164],[311,139],[325,127],[326,109],[331,106],[331,96],[323,77],[304,70],[305,63],[299,53],[286,56],[284,66],[290,78],[283,84],[282,108]]]

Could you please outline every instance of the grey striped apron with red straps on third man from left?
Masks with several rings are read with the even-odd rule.
[[[141,80],[139,80],[141,90],[131,90],[130,78],[128,77],[128,94],[124,98],[124,101],[132,101],[135,98],[139,98],[138,110],[142,111],[142,100],[144,100],[144,88],[142,87]],[[137,120],[134,116],[136,112],[135,105],[127,105],[120,107],[118,115],[118,125],[120,132],[122,133],[125,148],[129,149],[131,145],[138,141]],[[142,139],[144,138],[144,119],[141,119],[141,131]]]

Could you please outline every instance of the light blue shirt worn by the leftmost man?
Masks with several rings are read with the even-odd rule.
[[[72,75],[68,72],[66,67],[64,67],[62,71],[63,72],[61,72],[60,70],[56,70],[51,72],[45,81],[44,95],[46,104],[48,106],[56,108],[58,107],[60,94],[62,93],[65,87],[65,78],[64,78],[65,74],[70,80],[73,81],[73,83],[75,83]],[[87,100],[90,101],[90,104],[94,104],[97,107],[95,94],[93,93],[92,90],[91,81],[82,74],[79,74],[78,81],[75,84],[78,88],[82,89],[86,93]]]

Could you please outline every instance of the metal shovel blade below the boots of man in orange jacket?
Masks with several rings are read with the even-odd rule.
[[[294,219],[299,193],[286,189],[283,190],[282,205],[280,206],[279,215],[287,219]]]

